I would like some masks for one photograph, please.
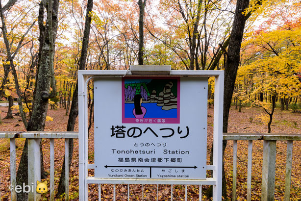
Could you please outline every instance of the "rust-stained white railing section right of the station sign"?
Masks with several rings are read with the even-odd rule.
[[[253,140],[263,140],[261,200],[274,200],[276,171],[276,141],[287,141],[284,201],[290,201],[293,141],[300,141],[301,134],[275,133],[224,133],[224,140],[233,140],[232,201],[236,201],[237,140],[248,140],[247,201],[251,201],[251,171]]]

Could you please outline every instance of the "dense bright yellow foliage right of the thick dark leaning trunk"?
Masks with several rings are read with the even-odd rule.
[[[301,94],[301,26],[249,33],[242,48],[237,93],[264,108],[269,108],[266,102],[273,91],[280,99]],[[260,101],[263,97],[265,101]]]

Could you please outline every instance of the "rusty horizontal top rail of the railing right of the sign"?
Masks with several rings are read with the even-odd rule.
[[[300,133],[223,133],[224,140],[301,140]]]

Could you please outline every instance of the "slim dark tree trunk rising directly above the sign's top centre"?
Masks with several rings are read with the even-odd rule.
[[[139,51],[138,64],[143,65],[143,47],[144,47],[144,8],[146,0],[138,0],[139,6]]]

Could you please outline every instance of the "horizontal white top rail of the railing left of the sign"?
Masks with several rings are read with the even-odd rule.
[[[0,131],[0,138],[78,138],[78,132],[71,131]]]

